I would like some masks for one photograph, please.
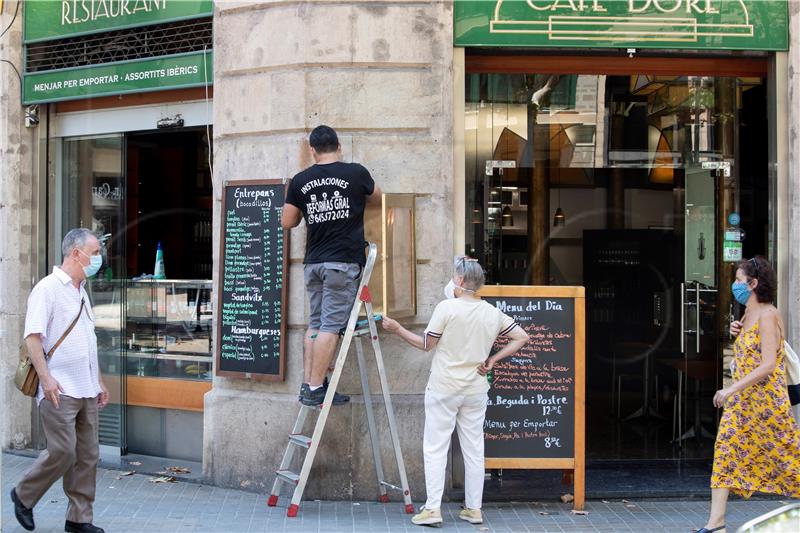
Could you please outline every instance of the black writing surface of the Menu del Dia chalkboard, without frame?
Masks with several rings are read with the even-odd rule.
[[[487,457],[572,457],[575,306],[569,298],[485,298],[530,342],[495,366],[484,422]],[[507,339],[500,338],[495,349]]]

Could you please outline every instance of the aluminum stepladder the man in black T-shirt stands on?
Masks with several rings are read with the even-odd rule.
[[[355,337],[356,356],[358,359],[358,370],[361,377],[361,388],[364,393],[364,407],[367,412],[367,425],[369,426],[370,441],[372,443],[372,456],[375,461],[375,471],[378,476],[378,501],[386,503],[389,501],[387,488],[400,491],[403,495],[405,503],[405,511],[409,514],[414,512],[414,505],[411,503],[411,491],[408,488],[408,478],[406,476],[405,462],[403,461],[403,453],[400,449],[400,437],[397,432],[397,422],[394,416],[394,409],[392,408],[392,399],[389,393],[389,384],[386,380],[386,368],[383,365],[383,355],[381,352],[380,342],[378,341],[378,327],[376,325],[376,316],[372,312],[372,297],[367,287],[369,279],[372,276],[372,269],[375,266],[375,259],[378,255],[378,247],[375,243],[369,243],[369,252],[367,254],[367,263],[361,274],[361,281],[358,285],[358,292],[356,293],[356,300],[353,303],[353,308],[350,311],[350,319],[347,322],[347,328],[344,331],[341,344],[339,346],[339,354],[336,357],[336,365],[334,366],[333,374],[331,374],[330,382],[328,384],[328,392],[321,406],[309,407],[306,405],[300,406],[300,412],[297,415],[297,420],[294,423],[292,432],[289,434],[289,443],[286,446],[286,451],[283,453],[283,460],[281,460],[280,467],[275,472],[275,482],[272,485],[267,505],[274,507],[278,504],[278,495],[280,493],[281,484],[287,483],[294,485],[294,493],[289,508],[286,511],[286,516],[295,517],[300,509],[300,501],[303,499],[303,492],[308,482],[308,476],[311,473],[311,467],[314,463],[314,457],[317,454],[320,442],[322,441],[322,432],[325,430],[325,423],[328,420],[333,405],[333,395],[339,385],[339,378],[342,375],[347,354],[350,350],[350,344]],[[358,320],[361,307],[364,306],[367,319]],[[375,352],[375,362],[380,376],[381,390],[383,392],[384,405],[386,406],[386,415],[389,421],[389,432],[392,437],[392,447],[394,448],[395,459],[397,460],[397,470],[400,473],[400,486],[393,485],[387,482],[383,473],[383,462],[381,460],[380,441],[378,429],[375,424],[375,412],[372,406],[372,394],[369,390],[369,381],[367,379],[366,359],[364,357],[364,349],[362,346],[362,337],[369,336],[372,341],[372,348]],[[310,411],[318,411],[317,422],[314,425],[314,433],[311,437],[302,434],[303,426],[305,425],[306,417]],[[306,456],[303,460],[303,466],[299,474],[291,472],[289,467],[294,459],[294,454],[300,449],[306,449]]]

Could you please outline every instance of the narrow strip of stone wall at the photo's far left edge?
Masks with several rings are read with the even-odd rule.
[[[0,31],[11,23],[17,2],[3,4]],[[0,59],[22,72],[22,6],[0,38]],[[34,148],[36,128],[25,127],[20,81],[0,63],[0,432],[2,446],[22,433],[30,443],[31,400],[14,387],[22,343],[25,303],[33,281]]]

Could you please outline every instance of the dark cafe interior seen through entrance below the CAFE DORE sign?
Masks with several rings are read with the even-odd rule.
[[[590,466],[707,463],[734,267],[769,245],[766,79],[519,70],[466,74],[465,253],[585,286]]]

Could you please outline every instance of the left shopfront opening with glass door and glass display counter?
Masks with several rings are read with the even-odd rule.
[[[103,245],[87,282],[111,391],[100,442],[123,452],[202,457],[213,364],[208,138],[190,128],[56,141],[53,245],[75,227]],[[166,279],[153,279],[157,248]]]

